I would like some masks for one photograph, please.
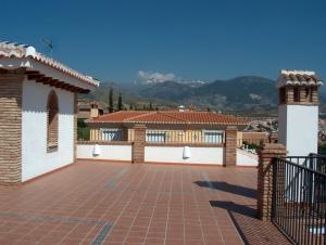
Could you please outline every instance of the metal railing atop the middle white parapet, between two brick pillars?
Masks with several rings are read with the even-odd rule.
[[[221,130],[147,130],[148,143],[190,143],[221,144],[224,143],[224,131]]]

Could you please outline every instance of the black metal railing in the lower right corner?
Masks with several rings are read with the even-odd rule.
[[[326,244],[325,157],[274,158],[272,221],[293,243]]]

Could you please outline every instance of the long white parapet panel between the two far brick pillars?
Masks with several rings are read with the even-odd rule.
[[[145,162],[223,165],[223,147],[190,147],[190,154],[185,159],[183,146],[146,146]]]

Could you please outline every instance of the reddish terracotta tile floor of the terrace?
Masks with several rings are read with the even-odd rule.
[[[255,188],[255,169],[80,162],[0,186],[0,244],[287,244]]]

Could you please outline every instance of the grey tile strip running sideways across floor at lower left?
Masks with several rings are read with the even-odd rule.
[[[74,218],[74,217],[55,217],[55,216],[41,216],[41,215],[29,215],[20,212],[0,212],[0,217],[3,218],[16,218],[20,220],[32,220],[36,222],[67,222],[67,223],[92,223],[92,224],[103,224],[105,221],[99,221],[96,219],[86,218]]]

